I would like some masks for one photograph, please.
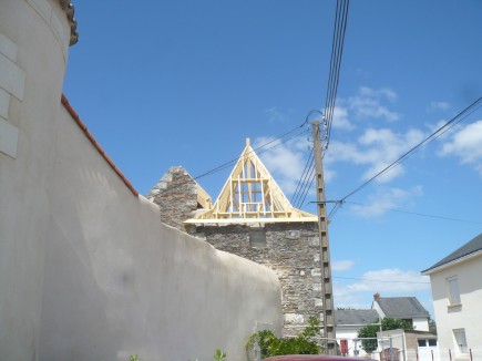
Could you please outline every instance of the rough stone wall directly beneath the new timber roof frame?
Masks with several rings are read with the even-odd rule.
[[[253,245],[250,230],[264,230],[265,245]],[[197,226],[189,233],[225,250],[271,268],[283,292],[284,334],[296,334],[308,318],[319,319],[321,309],[321,261],[317,224],[266,224]]]

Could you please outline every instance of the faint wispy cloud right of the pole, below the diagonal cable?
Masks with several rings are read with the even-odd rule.
[[[350,209],[365,218],[379,217],[390,209],[412,208],[414,199],[421,195],[423,195],[421,186],[408,190],[401,188],[380,189],[368,196],[367,205],[352,204]]]

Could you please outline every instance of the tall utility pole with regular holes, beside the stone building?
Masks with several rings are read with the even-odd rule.
[[[328,219],[326,209],[325,178],[321,156],[320,123],[312,122],[314,155],[316,169],[316,200],[318,205],[318,230],[321,259],[321,301],[325,354],[337,354],[335,332],[335,310],[331,281],[330,248],[328,241]]]

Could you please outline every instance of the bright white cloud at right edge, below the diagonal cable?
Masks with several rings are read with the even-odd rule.
[[[451,134],[442,146],[441,155],[458,156],[463,164],[472,165],[482,175],[482,121]]]

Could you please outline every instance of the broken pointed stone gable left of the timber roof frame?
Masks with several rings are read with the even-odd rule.
[[[160,207],[163,223],[183,231],[197,209],[196,182],[182,166],[171,167],[145,197]]]

